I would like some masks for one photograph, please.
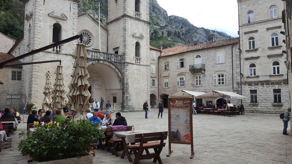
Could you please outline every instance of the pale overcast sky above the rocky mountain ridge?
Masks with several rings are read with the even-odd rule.
[[[235,37],[238,31],[236,0],[157,0],[168,15],[177,15],[196,27],[222,31]]]

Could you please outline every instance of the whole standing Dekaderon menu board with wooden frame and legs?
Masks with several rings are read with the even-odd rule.
[[[168,149],[169,157],[173,152],[171,144],[190,144],[194,156],[192,98],[168,98]]]

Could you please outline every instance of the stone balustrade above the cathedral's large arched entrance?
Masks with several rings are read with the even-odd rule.
[[[95,50],[86,50],[89,59],[102,59],[110,62],[121,62],[123,55],[105,53]]]

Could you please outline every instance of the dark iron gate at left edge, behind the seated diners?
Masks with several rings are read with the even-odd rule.
[[[2,110],[9,108],[21,113],[25,107],[25,101],[26,94],[22,92],[6,92],[5,90],[0,92],[0,107],[2,107]]]

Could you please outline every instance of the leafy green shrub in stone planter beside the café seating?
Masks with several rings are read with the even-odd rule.
[[[93,163],[89,144],[103,137],[102,130],[87,120],[36,125],[36,130],[26,134],[22,131],[18,149],[23,156],[30,156],[33,163]]]

